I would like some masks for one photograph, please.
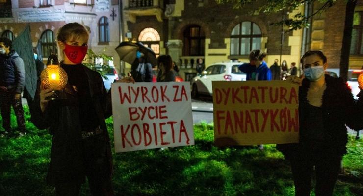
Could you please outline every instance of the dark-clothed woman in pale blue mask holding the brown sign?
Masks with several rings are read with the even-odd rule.
[[[316,172],[316,196],[332,196],[347,153],[346,125],[363,128],[363,78],[361,92],[353,95],[341,78],[324,74],[327,58],[321,51],[308,51],[301,58],[305,79],[289,77],[299,87],[299,142],[277,148],[291,163],[296,196],[310,196],[313,168]]]

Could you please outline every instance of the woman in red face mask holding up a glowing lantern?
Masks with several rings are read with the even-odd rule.
[[[47,128],[53,136],[47,182],[55,186],[57,196],[79,195],[85,177],[92,195],[114,195],[105,123],[112,115],[111,94],[107,93],[101,75],[82,64],[88,38],[88,31],[78,23],[59,29],[57,42],[64,55],[60,66],[68,77],[63,89],[65,98],[55,101],[47,98],[56,93],[54,90],[60,90],[52,82],[62,83],[64,77],[56,73],[49,73],[49,80],[38,81],[34,98],[32,121],[40,129]],[[133,79],[127,77],[118,82],[133,82]]]

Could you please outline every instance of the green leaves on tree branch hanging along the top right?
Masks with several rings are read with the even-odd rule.
[[[309,19],[329,7],[333,6],[337,0],[215,0],[217,3],[232,3],[234,9],[243,9],[247,5],[251,5],[254,3],[259,3],[259,7],[257,10],[251,10],[250,14],[256,13],[264,13],[264,14],[272,14],[279,13],[284,14],[285,18],[281,21],[272,23],[271,25],[287,25],[289,30],[297,30],[305,27],[309,27]],[[298,13],[293,18],[288,18],[287,13],[290,13],[296,10],[301,4],[305,2],[320,2],[322,6],[316,12],[312,13],[309,16],[305,16],[304,13]]]

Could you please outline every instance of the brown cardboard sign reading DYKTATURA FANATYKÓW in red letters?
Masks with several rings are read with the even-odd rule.
[[[213,81],[218,146],[299,140],[298,85],[287,81]]]

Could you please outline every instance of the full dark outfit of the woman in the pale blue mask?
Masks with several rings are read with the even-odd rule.
[[[363,128],[363,98],[357,101],[341,78],[325,75],[326,89],[322,105],[313,108],[307,99],[310,81],[299,88],[299,143],[279,144],[277,148],[291,161],[297,196],[310,192],[312,166],[317,173],[317,196],[331,196],[341,157],[347,152],[346,126]],[[362,91],[361,91],[362,92]],[[311,116],[311,112],[317,115]],[[319,117],[320,116],[320,117]],[[317,133],[312,133],[319,130]],[[324,194],[322,194],[324,192]]]

